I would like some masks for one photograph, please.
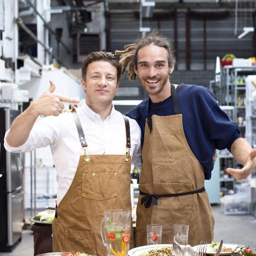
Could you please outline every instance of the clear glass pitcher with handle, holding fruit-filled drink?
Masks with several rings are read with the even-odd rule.
[[[101,239],[107,247],[107,256],[127,256],[131,223],[130,210],[104,211],[104,219],[101,221]]]

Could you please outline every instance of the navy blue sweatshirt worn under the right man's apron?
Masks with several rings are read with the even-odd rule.
[[[181,84],[177,88],[177,97],[188,145],[203,165],[205,179],[209,180],[215,148],[228,148],[230,151],[233,142],[241,137],[238,125],[230,121],[211,92],[204,86]],[[174,114],[172,96],[159,103],[150,101],[148,109],[149,100],[147,98],[127,113],[127,116],[135,119],[140,125],[142,146],[147,116]]]

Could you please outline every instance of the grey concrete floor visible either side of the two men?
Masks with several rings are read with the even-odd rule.
[[[249,245],[256,249],[256,218],[252,215],[225,215],[220,206],[212,206],[215,229],[214,241],[223,239],[223,243]],[[22,241],[12,252],[0,252],[0,256],[33,256],[33,233],[24,230]]]

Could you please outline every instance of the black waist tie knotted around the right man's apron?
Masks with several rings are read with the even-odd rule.
[[[175,194],[162,194],[162,195],[153,195],[148,194],[140,190],[140,195],[144,197],[141,198],[141,204],[144,204],[145,208],[149,208],[152,205],[157,205],[157,200],[159,197],[175,197],[175,196],[185,196],[185,195],[192,195],[197,193],[202,193],[205,191],[205,187],[202,187],[197,190],[183,192],[183,193],[175,193]]]

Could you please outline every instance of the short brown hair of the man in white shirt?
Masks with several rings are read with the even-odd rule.
[[[87,55],[86,59],[84,60],[81,70],[82,70],[82,77],[85,79],[87,67],[90,63],[94,61],[107,61],[117,70],[117,82],[119,82],[121,78],[121,65],[119,63],[118,57],[111,52],[91,52]]]

